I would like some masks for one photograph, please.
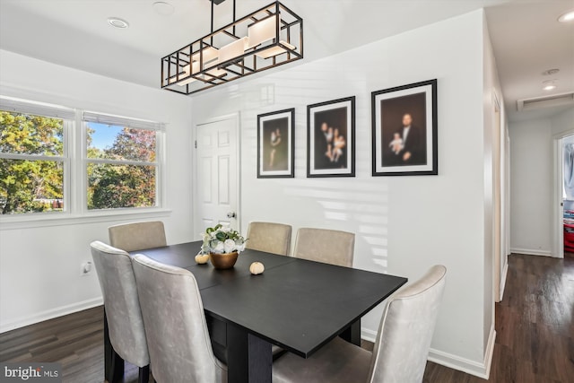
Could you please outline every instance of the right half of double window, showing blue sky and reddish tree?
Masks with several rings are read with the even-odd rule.
[[[88,210],[158,203],[162,125],[83,113]]]

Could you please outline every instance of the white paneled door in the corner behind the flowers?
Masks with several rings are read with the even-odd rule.
[[[237,116],[196,126],[196,231],[218,223],[239,229]]]

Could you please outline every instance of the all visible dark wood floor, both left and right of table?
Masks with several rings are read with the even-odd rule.
[[[496,305],[497,337],[488,381],[574,382],[573,316],[574,259],[509,257],[504,300]],[[0,334],[0,361],[57,361],[65,382],[101,382],[102,318],[99,307]],[[137,381],[134,366],[126,364],[124,381]],[[424,382],[484,380],[428,362]]]

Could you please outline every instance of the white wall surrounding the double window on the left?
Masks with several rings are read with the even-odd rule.
[[[0,93],[4,95],[167,123],[166,207],[172,212],[163,214],[161,220],[170,243],[192,238],[191,101],[187,97],[3,50],[0,63]],[[8,230],[3,221],[0,331],[101,304],[96,274],[81,277],[80,264],[91,259],[89,243],[95,239],[108,241],[107,227],[116,223],[120,222],[112,217]]]

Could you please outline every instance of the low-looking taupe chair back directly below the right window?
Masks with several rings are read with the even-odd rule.
[[[108,228],[109,243],[114,248],[131,252],[144,248],[167,246],[163,222],[133,222]]]

